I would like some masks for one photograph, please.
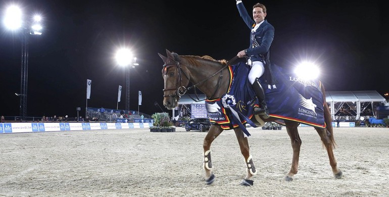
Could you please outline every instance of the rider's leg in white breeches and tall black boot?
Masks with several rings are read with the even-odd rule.
[[[249,73],[249,82],[253,85],[253,89],[258,97],[260,105],[259,108],[254,108],[254,114],[261,115],[264,118],[269,118],[269,112],[267,110],[267,105],[265,101],[265,93],[263,92],[263,88],[258,80],[258,78],[263,75],[264,71],[265,68],[262,62],[253,62],[253,66]]]

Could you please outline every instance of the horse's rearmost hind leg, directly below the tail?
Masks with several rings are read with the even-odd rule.
[[[323,129],[323,128],[315,128],[315,130],[320,135],[321,141],[323,142],[323,145],[327,150],[329,165],[332,168],[333,176],[337,179],[342,178],[343,173],[341,170],[337,169],[337,163],[333,155],[333,148],[335,147],[335,141],[333,139],[332,133],[329,132],[327,129]]]

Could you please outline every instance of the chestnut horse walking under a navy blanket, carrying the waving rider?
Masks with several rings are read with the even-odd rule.
[[[209,56],[179,56],[176,53],[171,53],[166,50],[167,57],[158,54],[164,61],[162,69],[162,77],[164,79],[164,106],[171,110],[178,106],[180,96],[185,94],[188,89],[198,88],[202,91],[207,98],[215,99],[220,98],[227,92],[229,86],[229,73],[226,61],[216,61]],[[189,83],[193,84],[191,87],[187,87]],[[323,145],[325,146],[329,158],[329,164],[332,168],[332,173],[335,178],[342,177],[342,171],[337,169],[336,160],[332,150],[335,148],[335,141],[333,138],[331,116],[327,103],[325,102],[324,87],[320,87],[324,96],[324,121],[326,123],[325,128],[315,127],[315,130],[319,134]],[[251,120],[258,126],[261,125],[260,121],[257,121],[257,115],[253,116]],[[265,122],[276,121],[279,118],[270,117],[264,119]],[[290,171],[283,178],[286,181],[293,180],[293,177],[298,172],[299,168],[299,156],[301,138],[299,136],[298,126],[299,122],[284,120],[286,131],[290,137],[291,146],[293,149],[293,160],[291,163]],[[245,137],[244,132],[239,127],[233,129],[236,138],[239,143],[240,152],[245,158],[247,166],[247,175],[241,181],[241,185],[251,186],[254,181],[253,175],[257,173],[257,169],[254,166],[253,157],[250,155],[250,146],[248,137]],[[211,184],[215,180],[215,175],[212,173],[211,151],[210,147],[217,136],[223,131],[218,124],[213,124],[208,131],[207,136],[204,138],[204,164],[205,179],[207,184]]]

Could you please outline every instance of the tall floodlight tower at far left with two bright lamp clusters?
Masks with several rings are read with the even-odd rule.
[[[22,43],[22,61],[21,61],[21,79],[20,79],[20,117],[25,119],[27,115],[27,76],[28,76],[28,36],[41,35],[42,26],[40,25],[41,17],[33,16],[32,19],[26,20],[23,18],[22,10],[17,6],[8,7],[4,25],[7,29],[21,35]]]

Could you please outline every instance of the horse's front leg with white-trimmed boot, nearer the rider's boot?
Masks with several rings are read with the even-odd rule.
[[[245,163],[247,167],[247,175],[240,182],[240,184],[244,186],[252,186],[254,184],[254,180],[252,180],[251,178],[253,177],[253,175],[257,174],[257,169],[254,166],[253,157],[250,155],[249,140],[247,139],[247,137],[245,137],[241,129],[234,129],[234,131],[239,143],[240,153],[245,158]]]

